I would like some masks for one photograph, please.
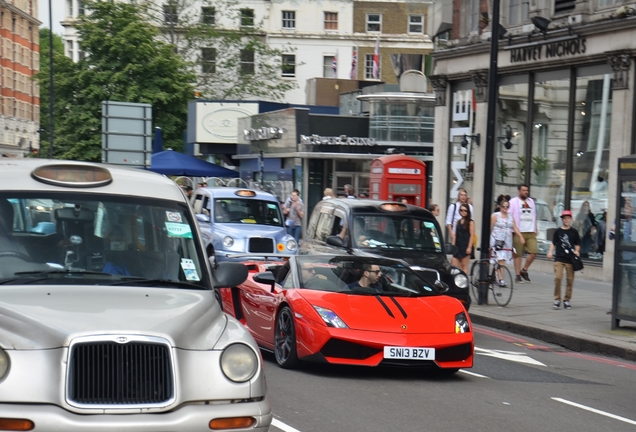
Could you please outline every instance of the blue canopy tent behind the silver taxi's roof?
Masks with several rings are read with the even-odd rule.
[[[152,155],[150,171],[192,177],[238,177],[239,173],[173,150]]]

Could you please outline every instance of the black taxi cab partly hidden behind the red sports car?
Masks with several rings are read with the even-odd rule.
[[[448,285],[446,293],[468,309],[468,277],[450,265],[446,245],[435,217],[426,209],[370,199],[329,199],[314,208],[301,254],[381,256],[407,262],[427,278]]]

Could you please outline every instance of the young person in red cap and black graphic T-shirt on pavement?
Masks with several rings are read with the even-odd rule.
[[[554,231],[550,250],[546,256],[552,259],[554,254],[554,309],[561,307],[561,279],[563,279],[563,270],[566,272],[565,297],[563,297],[563,309],[571,309],[570,299],[572,298],[572,286],[574,285],[574,263],[578,260],[580,264],[579,252],[581,250],[581,237],[579,232],[572,228],[572,212],[563,210],[561,213],[561,221],[563,226]],[[579,268],[580,270],[580,268]]]

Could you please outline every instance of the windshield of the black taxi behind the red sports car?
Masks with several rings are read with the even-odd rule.
[[[442,253],[441,236],[435,223],[413,215],[356,215],[352,241],[356,248]]]

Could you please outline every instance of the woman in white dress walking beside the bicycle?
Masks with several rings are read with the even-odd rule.
[[[517,234],[521,244],[525,244],[525,239],[517,228],[514,218],[508,209],[510,203],[505,197],[502,197],[499,202],[499,211],[492,214],[490,217],[490,249],[491,257],[499,261],[499,264],[503,265],[512,264],[512,235]],[[499,275],[499,286],[506,286],[506,281],[503,278],[503,269]]]

